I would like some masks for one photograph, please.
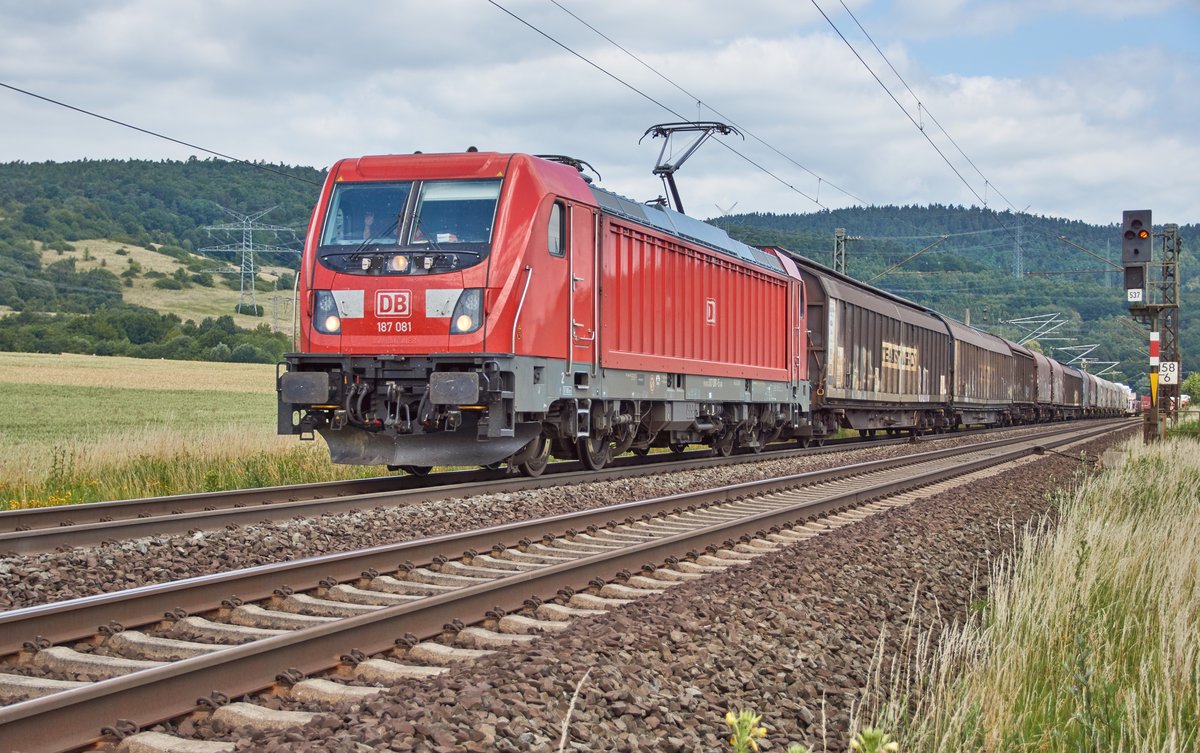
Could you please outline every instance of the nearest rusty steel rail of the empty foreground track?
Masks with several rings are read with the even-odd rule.
[[[902,478],[817,501],[784,505],[734,522],[712,524],[538,571],[518,572],[419,602],[386,607],[379,612],[32,699],[0,709],[0,731],[4,733],[11,749],[58,753],[78,748],[97,740],[98,730],[106,724],[115,723],[118,718],[128,718],[138,727],[145,727],[197,709],[196,705],[188,705],[191,701],[175,700],[173,705],[172,700],[181,695],[194,698],[197,688],[217,689],[227,697],[262,691],[274,685],[276,674],[284,667],[298,668],[305,674],[325,670],[336,667],[341,661],[338,657],[352,650],[361,651],[364,655],[386,651],[395,646],[397,635],[403,633],[410,633],[418,639],[436,637],[442,633],[446,622],[462,615],[478,615],[497,607],[504,610],[517,609],[530,595],[556,594],[581,582],[589,582],[592,577],[601,573],[611,574],[637,568],[647,562],[662,561],[683,552],[743,535],[761,535],[775,525],[794,523],[852,502],[886,496],[1001,464],[1031,454],[1038,447],[1060,446],[1120,428],[1122,427],[1088,429],[1076,427],[1063,432],[1057,439],[1042,444],[1030,439],[1010,439],[1007,444],[1015,447],[1008,450],[992,447],[996,450],[995,454],[942,466],[926,474],[906,475]],[[979,447],[973,447],[959,454],[979,452]],[[954,453],[938,451],[925,454]],[[773,480],[776,482],[774,487],[764,481],[736,484],[715,492],[721,494],[722,499],[744,498],[779,490],[781,487],[790,488],[794,486],[791,483],[794,478]]]

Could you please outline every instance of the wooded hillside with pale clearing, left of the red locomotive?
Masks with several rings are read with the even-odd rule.
[[[205,230],[236,222],[226,209],[271,210],[260,222],[294,233],[256,242],[299,251],[323,179],[196,158],[0,164],[0,350],[277,361],[292,343],[275,294],[290,275],[258,275],[263,297],[242,306],[239,276],[224,273],[236,254],[194,252],[241,242]],[[256,255],[259,267],[296,259]]]

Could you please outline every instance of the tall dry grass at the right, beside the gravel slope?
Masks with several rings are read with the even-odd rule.
[[[1123,451],[994,562],[966,625],[880,657],[864,717],[905,751],[1200,749],[1200,446]]]

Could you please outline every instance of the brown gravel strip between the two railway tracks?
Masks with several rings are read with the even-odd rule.
[[[7,555],[0,558],[0,610],[908,454],[952,444],[991,440],[1007,434],[964,435],[919,445],[851,450],[646,478],[479,495],[185,536],[154,536],[89,549]]]

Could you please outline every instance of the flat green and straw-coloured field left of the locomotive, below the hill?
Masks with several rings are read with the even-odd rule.
[[[0,508],[373,476],[275,433],[275,367],[0,353]]]

